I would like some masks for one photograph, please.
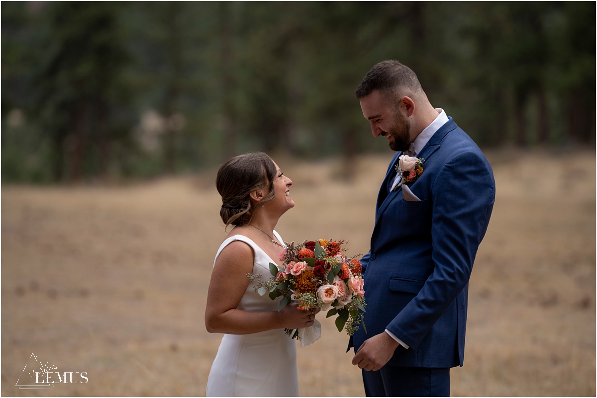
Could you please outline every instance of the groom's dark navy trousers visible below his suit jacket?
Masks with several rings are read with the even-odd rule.
[[[368,397],[449,397],[450,368],[383,366],[376,372],[363,370]]]

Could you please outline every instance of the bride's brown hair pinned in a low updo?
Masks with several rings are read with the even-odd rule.
[[[220,216],[226,226],[247,225],[256,206],[273,200],[276,171],[272,159],[263,152],[235,156],[221,165],[216,177],[216,188],[222,197]],[[249,197],[256,189],[268,191],[258,205]]]

